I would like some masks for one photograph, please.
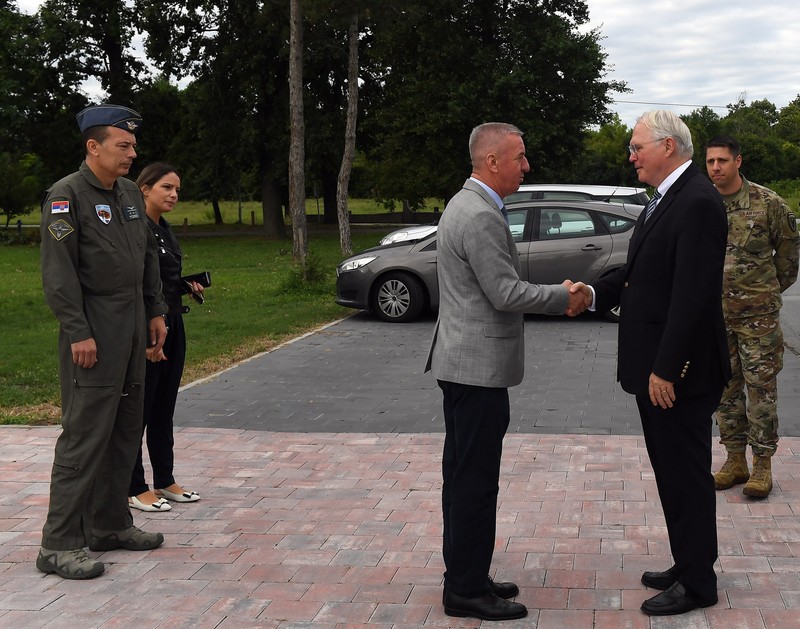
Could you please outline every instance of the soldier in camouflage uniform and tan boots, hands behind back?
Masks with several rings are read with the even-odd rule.
[[[722,305],[733,371],[717,409],[728,458],[714,484],[727,489],[746,482],[745,495],[763,498],[772,490],[771,461],[778,447],[781,293],[797,279],[798,234],[795,215],[784,200],[747,181],[739,173],[741,164],[733,138],[719,136],[708,143],[708,176],[728,212]],[[752,476],[745,458],[748,444]]]

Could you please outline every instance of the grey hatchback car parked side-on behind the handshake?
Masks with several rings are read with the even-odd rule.
[[[591,283],[622,266],[641,205],[601,201],[509,203],[520,276],[534,284]],[[336,303],[384,321],[413,321],[439,306],[436,234],[374,247],[336,267]],[[613,313],[610,318],[615,319]]]

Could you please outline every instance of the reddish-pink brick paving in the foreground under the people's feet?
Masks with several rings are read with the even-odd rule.
[[[103,553],[88,582],[33,565],[56,435],[0,428],[0,627],[480,624],[440,604],[441,434],[181,428],[179,477],[203,499],[137,512],[164,547]],[[720,603],[671,619],[639,611],[641,572],[670,563],[640,437],[509,435],[503,467],[494,567],[531,609],[504,626],[800,626],[800,439],[769,499],[718,494]]]

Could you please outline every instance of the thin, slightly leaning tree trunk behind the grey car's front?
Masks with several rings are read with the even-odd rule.
[[[350,55],[347,62],[347,125],[344,132],[344,154],[339,170],[336,191],[336,210],[339,215],[339,244],[342,254],[353,254],[350,238],[350,217],[347,212],[347,197],[350,186],[350,173],[356,152],[356,118],[358,117],[358,11],[353,12],[348,32]]]

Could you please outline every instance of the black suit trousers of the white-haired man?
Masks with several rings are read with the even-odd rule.
[[[679,396],[671,409],[653,406],[649,397],[636,396],[674,569],[681,584],[705,600],[717,597],[717,498],[711,474],[711,416],[721,395],[720,389],[701,396]]]

